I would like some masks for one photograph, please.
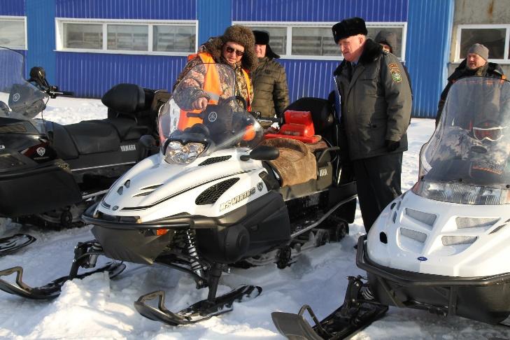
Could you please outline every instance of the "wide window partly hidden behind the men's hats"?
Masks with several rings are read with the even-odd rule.
[[[341,59],[334,43],[331,27],[336,22],[234,22],[250,29],[267,31],[271,50],[288,59]],[[367,22],[369,38],[375,38],[381,29],[397,36],[393,54],[399,59],[405,55],[406,22]]]

